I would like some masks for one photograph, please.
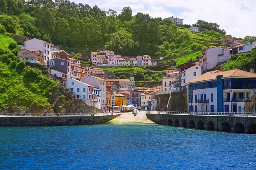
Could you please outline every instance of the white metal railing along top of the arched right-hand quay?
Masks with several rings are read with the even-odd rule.
[[[171,115],[192,115],[192,116],[237,116],[237,117],[255,117],[256,113],[247,112],[175,112],[175,111],[147,111],[148,114],[171,114]]]

